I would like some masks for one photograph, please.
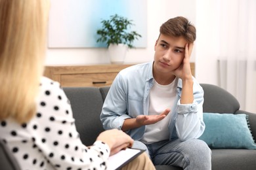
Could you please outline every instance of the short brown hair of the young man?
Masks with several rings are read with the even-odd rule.
[[[190,24],[186,18],[177,16],[161,25],[160,34],[173,37],[182,36],[186,41],[194,42],[196,40],[196,27]]]

